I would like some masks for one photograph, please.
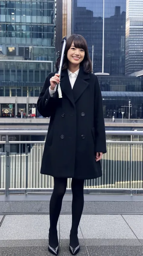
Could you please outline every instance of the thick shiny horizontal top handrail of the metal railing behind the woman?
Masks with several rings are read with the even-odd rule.
[[[143,128],[142,128],[143,129]],[[0,135],[47,135],[48,130],[0,130]],[[143,136],[143,131],[106,131],[106,135],[140,135]]]

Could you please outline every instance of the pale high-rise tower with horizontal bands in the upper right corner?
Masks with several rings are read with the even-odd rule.
[[[143,1],[127,0],[126,74],[143,70]]]

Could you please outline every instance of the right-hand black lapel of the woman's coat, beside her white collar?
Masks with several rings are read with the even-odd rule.
[[[89,85],[89,81],[88,81],[89,79],[90,79],[89,74],[85,73],[83,70],[83,67],[81,66],[78,73],[78,77],[72,89],[75,103],[79,99],[81,94],[83,94],[83,92],[86,90],[87,86]]]

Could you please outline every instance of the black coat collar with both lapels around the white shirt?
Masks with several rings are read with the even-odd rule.
[[[68,97],[68,99],[72,102],[74,106],[76,101],[79,99],[81,94],[83,94],[84,90],[89,85],[89,79],[89,73],[85,73],[83,67],[81,66],[74,87],[72,89],[68,76],[68,71],[62,70],[60,81],[61,90],[65,93],[65,95]]]

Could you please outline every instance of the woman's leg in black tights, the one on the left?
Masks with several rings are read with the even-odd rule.
[[[49,228],[49,245],[52,248],[58,246],[57,223],[62,208],[62,199],[67,187],[67,178],[54,177],[54,189],[50,200],[50,228]]]

